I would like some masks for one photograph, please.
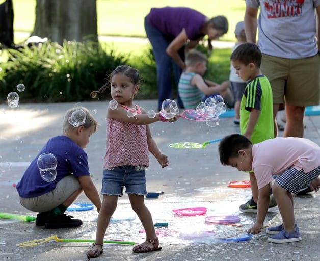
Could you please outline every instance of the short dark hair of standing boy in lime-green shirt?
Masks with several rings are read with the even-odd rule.
[[[240,61],[244,65],[249,63],[254,63],[258,68],[261,65],[261,51],[259,47],[254,43],[243,43],[240,44],[232,52],[230,60],[231,61]]]

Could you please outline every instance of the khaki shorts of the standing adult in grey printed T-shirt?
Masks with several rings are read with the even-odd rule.
[[[319,104],[320,56],[286,59],[262,54],[261,71],[268,77],[273,103],[293,106]]]

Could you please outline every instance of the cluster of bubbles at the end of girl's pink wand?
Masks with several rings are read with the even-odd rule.
[[[219,115],[225,113],[227,110],[226,103],[223,97],[216,95],[207,98],[204,102],[200,102],[196,108],[196,113],[199,116],[205,115],[205,123],[209,127],[219,126]]]

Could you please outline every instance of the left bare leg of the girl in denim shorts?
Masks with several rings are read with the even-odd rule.
[[[105,235],[106,228],[109,225],[112,214],[115,212],[118,203],[118,196],[116,195],[103,195],[101,209],[98,215],[97,221],[97,232],[96,232],[96,244],[103,245],[103,239]],[[101,250],[101,245],[95,245],[92,247],[92,250],[99,249]]]

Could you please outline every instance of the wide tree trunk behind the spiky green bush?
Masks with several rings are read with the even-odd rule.
[[[37,0],[32,35],[59,44],[98,41],[96,0]]]

